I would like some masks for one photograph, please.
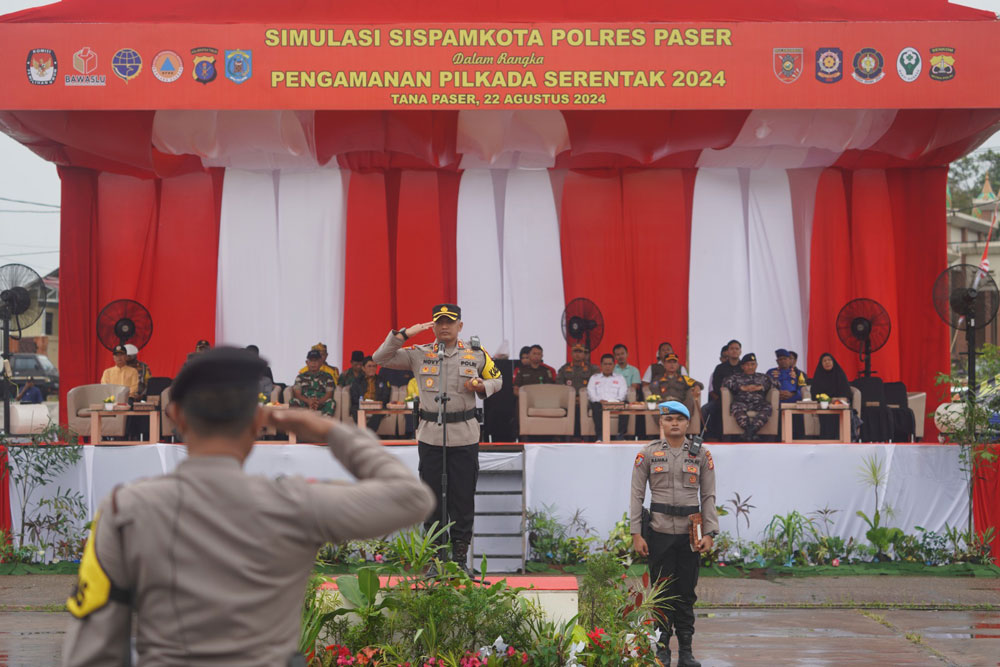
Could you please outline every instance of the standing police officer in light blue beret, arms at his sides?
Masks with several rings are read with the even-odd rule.
[[[712,548],[719,531],[715,509],[715,463],[708,449],[685,434],[691,414],[683,403],[660,403],[660,440],[654,440],[635,457],[629,522],[632,545],[649,559],[654,581],[669,578],[665,595],[677,596],[659,609],[660,647],[656,656],[670,665],[670,637],[677,633],[678,667],[699,667],[691,641],[694,635],[694,603],[698,599],[698,569],[701,554]],[[696,451],[692,452],[692,446]],[[651,533],[642,537],[642,501],[650,490]],[[689,519],[700,512],[702,537],[692,551]]]

